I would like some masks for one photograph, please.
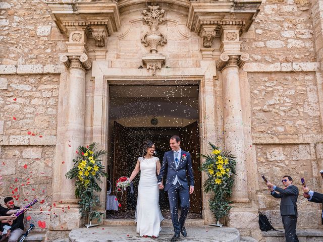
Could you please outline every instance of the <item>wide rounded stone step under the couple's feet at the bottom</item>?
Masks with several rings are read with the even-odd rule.
[[[189,226],[185,223],[188,236],[181,236],[181,242],[188,241],[222,241],[239,242],[240,233],[236,228],[213,227],[209,225]],[[150,237],[140,237],[136,233],[135,226],[97,226],[90,228],[73,229],[70,234],[70,242],[114,242],[114,241],[170,241],[174,235],[172,226],[162,226],[159,237],[152,239]]]

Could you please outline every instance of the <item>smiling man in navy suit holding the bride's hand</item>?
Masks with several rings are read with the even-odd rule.
[[[180,240],[180,233],[186,237],[185,219],[190,207],[190,194],[194,192],[194,174],[190,153],[181,150],[181,139],[174,135],[170,139],[172,150],[165,152],[163,164],[158,175],[159,189],[163,189],[163,179],[166,176],[165,191],[168,192],[172,222],[175,234],[171,241]],[[186,176],[188,172],[188,177]],[[190,187],[188,186],[188,180]],[[178,200],[181,204],[181,217],[178,220]]]

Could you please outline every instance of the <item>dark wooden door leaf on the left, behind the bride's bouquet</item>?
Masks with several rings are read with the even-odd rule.
[[[114,123],[114,161],[113,161],[113,180],[111,181],[113,189],[116,188],[116,181],[119,177],[125,176],[125,167],[127,167],[127,157],[123,155],[126,150],[127,132],[126,128],[119,123]],[[115,193],[118,197],[120,212],[127,210],[127,191]],[[121,196],[122,195],[122,196]]]

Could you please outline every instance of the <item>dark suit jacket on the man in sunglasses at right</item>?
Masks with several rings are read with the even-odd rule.
[[[279,193],[276,193],[279,192]],[[298,199],[298,188],[294,185],[282,189],[276,187],[274,193],[272,193],[274,198],[280,198],[281,201],[281,216],[285,215],[295,215],[297,217],[297,199]]]

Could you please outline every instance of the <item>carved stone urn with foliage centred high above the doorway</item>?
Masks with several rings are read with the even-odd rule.
[[[158,31],[158,24],[165,22],[165,10],[159,9],[159,6],[148,6],[147,10],[143,10],[141,15],[144,21],[150,28],[150,32],[146,32],[142,38],[141,43],[146,47],[150,46],[150,52],[157,53],[157,46],[164,46],[167,39],[164,34]]]

